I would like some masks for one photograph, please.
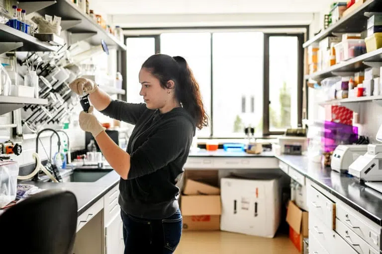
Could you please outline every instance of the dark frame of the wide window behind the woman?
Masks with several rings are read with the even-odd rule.
[[[154,38],[155,39],[155,53],[160,54],[160,45],[161,45],[161,39],[160,36],[163,32],[163,30],[168,30],[169,33],[171,33],[171,30],[176,29],[177,32],[181,30],[182,32],[188,32],[190,30],[200,30],[204,31],[206,29],[209,29],[209,33],[211,34],[211,39],[210,39],[210,47],[211,47],[211,59],[210,59],[210,66],[211,66],[211,82],[210,82],[210,89],[211,89],[211,105],[210,105],[210,115],[209,115],[209,126],[210,128],[210,135],[207,137],[199,137],[202,139],[237,139],[238,137],[234,136],[228,136],[228,137],[223,137],[223,136],[214,136],[213,135],[213,33],[215,32],[222,32],[222,31],[214,31],[215,29],[284,29],[284,28],[304,28],[305,32],[301,33],[282,33],[282,32],[275,32],[275,33],[268,33],[268,32],[263,32],[264,34],[264,64],[263,64],[263,133],[262,136],[267,138],[269,136],[270,138],[275,135],[281,135],[284,134],[285,131],[270,131],[269,129],[269,38],[273,36],[291,36],[291,37],[297,37],[297,47],[298,47],[298,61],[297,61],[297,125],[301,126],[302,124],[302,112],[303,112],[303,73],[304,73],[304,49],[302,47],[302,44],[305,42],[306,38],[308,37],[309,34],[309,25],[294,25],[294,26],[233,26],[233,27],[154,27],[154,28],[124,28],[123,30],[152,30],[152,34],[145,34],[145,35],[125,35],[124,40],[126,41],[127,38]],[[160,33],[155,33],[155,30],[161,31]],[[243,30],[245,31],[245,30]],[[251,30],[253,31],[253,30]],[[126,54],[122,54],[121,59],[121,69],[126,68]],[[127,84],[123,84],[124,89],[127,91]],[[127,93],[126,93],[127,94]],[[126,101],[127,95],[122,96],[122,100]]]

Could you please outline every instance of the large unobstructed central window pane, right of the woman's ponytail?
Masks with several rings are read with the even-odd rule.
[[[214,33],[213,135],[243,136],[263,130],[263,33]]]

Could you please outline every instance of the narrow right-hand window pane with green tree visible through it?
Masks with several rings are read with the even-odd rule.
[[[270,131],[297,125],[297,62],[297,37],[269,38]]]

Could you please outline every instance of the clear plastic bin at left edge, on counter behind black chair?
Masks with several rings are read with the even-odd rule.
[[[18,162],[0,161],[0,208],[16,198]]]

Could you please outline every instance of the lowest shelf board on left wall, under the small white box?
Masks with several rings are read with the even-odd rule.
[[[12,112],[25,105],[47,105],[47,99],[35,99],[28,97],[0,96],[0,115]]]

